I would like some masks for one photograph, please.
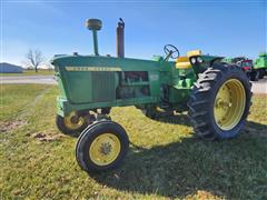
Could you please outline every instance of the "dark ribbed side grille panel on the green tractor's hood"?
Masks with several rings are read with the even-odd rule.
[[[112,101],[116,99],[115,72],[92,72],[92,99],[97,102]]]

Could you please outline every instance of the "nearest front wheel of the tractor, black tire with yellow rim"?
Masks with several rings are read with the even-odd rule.
[[[125,129],[109,120],[92,123],[80,134],[76,144],[76,160],[87,172],[117,168],[129,148]]]

